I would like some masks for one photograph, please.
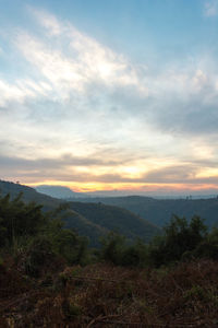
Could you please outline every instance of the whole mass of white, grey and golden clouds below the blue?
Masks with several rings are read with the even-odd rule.
[[[0,77],[3,176],[213,184],[197,174],[218,160],[216,58],[195,54],[153,70],[50,13],[29,12],[36,31],[16,28],[8,38],[27,69]]]

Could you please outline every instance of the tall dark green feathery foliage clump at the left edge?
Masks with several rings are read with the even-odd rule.
[[[88,261],[87,239],[73,230],[63,229],[60,206],[53,212],[43,212],[41,206],[25,203],[22,195],[0,197],[0,247],[11,249],[17,258],[25,257],[26,271],[37,276],[40,267],[56,256],[69,263]]]

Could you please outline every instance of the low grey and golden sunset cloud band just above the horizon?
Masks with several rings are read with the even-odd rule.
[[[132,167],[130,165],[133,165]],[[25,183],[65,181],[96,183],[105,186],[132,186],[141,188],[146,185],[218,185],[217,162],[187,162],[174,165],[161,165],[159,168],[147,166],[147,172],[141,172],[131,159],[100,159],[99,154],[88,157],[65,154],[59,157],[41,157],[29,160],[16,156],[0,155],[1,175]],[[207,169],[205,169],[207,167]],[[135,173],[132,173],[135,169]],[[211,174],[213,172],[213,174]]]

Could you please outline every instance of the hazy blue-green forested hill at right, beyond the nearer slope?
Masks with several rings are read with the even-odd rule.
[[[218,225],[218,198],[210,199],[154,199],[143,196],[80,199],[121,207],[153,224],[164,226],[172,214],[191,219],[194,214],[205,219],[208,226]]]

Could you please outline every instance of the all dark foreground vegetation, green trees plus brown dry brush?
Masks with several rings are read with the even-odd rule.
[[[101,247],[52,212],[0,198],[0,327],[216,327],[218,230],[173,216],[146,245]]]

